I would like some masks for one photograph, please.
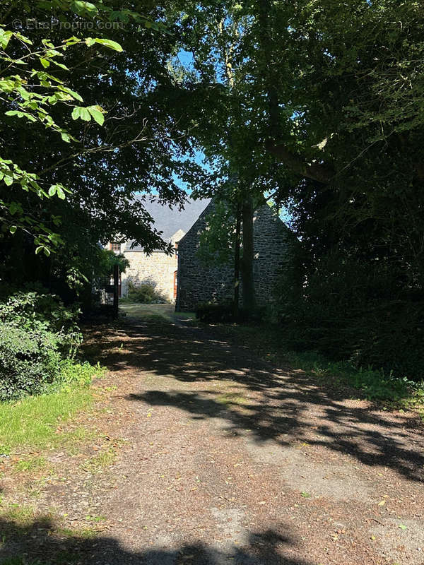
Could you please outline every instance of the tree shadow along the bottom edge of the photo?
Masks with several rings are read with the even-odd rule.
[[[288,528],[285,528],[287,531]],[[124,547],[114,537],[72,535],[52,518],[39,518],[18,525],[0,518],[0,564],[39,565],[312,565],[293,557],[297,543],[290,535],[273,530],[248,535],[245,545],[225,549],[196,541],[169,547]],[[138,543],[136,543],[139,546]],[[286,554],[290,552],[290,556]]]

